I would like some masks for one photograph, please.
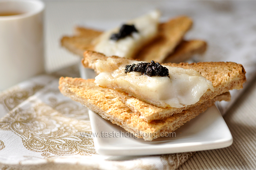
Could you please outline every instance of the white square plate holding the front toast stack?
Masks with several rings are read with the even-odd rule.
[[[94,78],[95,74],[88,68],[80,66],[84,79]],[[211,150],[228,147],[233,138],[226,122],[216,106],[178,128],[173,136],[160,137],[153,141],[125,137],[128,133],[122,127],[112,124],[93,111],[89,111],[93,141],[96,151],[102,155],[157,155],[198,150]],[[96,137],[95,134],[98,134]],[[109,136],[109,137],[102,137]],[[110,137],[110,136],[119,137]]]

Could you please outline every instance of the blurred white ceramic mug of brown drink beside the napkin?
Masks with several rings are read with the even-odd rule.
[[[0,0],[0,91],[44,72],[44,3]]]

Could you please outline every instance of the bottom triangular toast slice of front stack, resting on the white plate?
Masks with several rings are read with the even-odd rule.
[[[87,106],[102,118],[123,127],[136,137],[143,137],[150,141],[161,134],[175,131],[199,113],[204,112],[215,101],[230,99],[230,94],[225,93],[166,119],[146,122],[119,100],[113,90],[96,86],[94,79],[61,77],[59,89],[62,94]]]

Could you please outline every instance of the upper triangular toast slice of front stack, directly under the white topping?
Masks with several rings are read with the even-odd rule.
[[[122,61],[127,60],[116,56],[113,56],[112,58],[119,60],[121,59]],[[105,57],[104,54],[100,54],[94,51],[86,51],[84,52],[84,59],[82,60],[82,63],[85,67],[96,69],[94,63],[97,59],[106,60],[108,57]],[[246,80],[243,66],[234,62],[198,62],[192,64],[166,63],[165,65],[181,67],[185,69],[195,69],[199,72],[199,74],[212,82],[214,92],[208,90],[203,96],[201,96],[197,103],[193,105],[187,105],[183,108],[160,108],[148,104],[147,102],[143,102],[136,97],[129,96],[125,92],[118,91],[118,88],[116,88],[116,94],[119,96],[122,102],[125,103],[125,105],[127,105],[134,113],[141,115],[147,122],[156,119],[164,119],[166,117],[172,116],[174,113],[180,113],[190,107],[201,105],[208,100],[214,99],[215,96],[228,92],[229,90],[241,89],[243,87],[243,83]],[[96,72],[99,73],[97,70]]]

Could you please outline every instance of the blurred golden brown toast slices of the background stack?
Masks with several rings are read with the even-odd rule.
[[[185,45],[182,45],[183,41],[181,40],[186,31],[188,31],[191,26],[192,20],[185,16],[177,17],[173,20],[169,20],[166,23],[159,24],[159,33],[157,35],[157,39],[153,40],[149,45],[146,45],[145,48],[147,48],[147,50],[142,50],[139,54],[137,53],[134,58],[137,58],[139,55],[141,55],[139,58],[144,58],[144,60],[147,61],[147,59],[150,59],[150,57],[152,57],[154,54],[155,61],[160,62],[159,59],[161,59],[161,62],[163,62],[163,56],[164,58],[171,58],[172,54],[176,53],[175,48],[179,43],[181,43],[180,47],[182,47],[177,51],[180,60],[183,58],[187,59],[193,54],[201,54],[202,51],[206,50],[206,48],[200,45],[193,45],[196,44],[197,40],[188,41],[190,45],[186,45],[187,43],[184,41]],[[76,27],[75,32],[75,36],[62,37],[61,45],[81,57],[83,57],[84,51],[93,50],[96,38],[102,34],[101,31],[82,27]],[[191,50],[189,50],[190,48]],[[154,51],[154,53],[149,54],[151,51]],[[146,57],[148,54],[149,56]],[[177,57],[177,54],[175,54],[175,57]]]

